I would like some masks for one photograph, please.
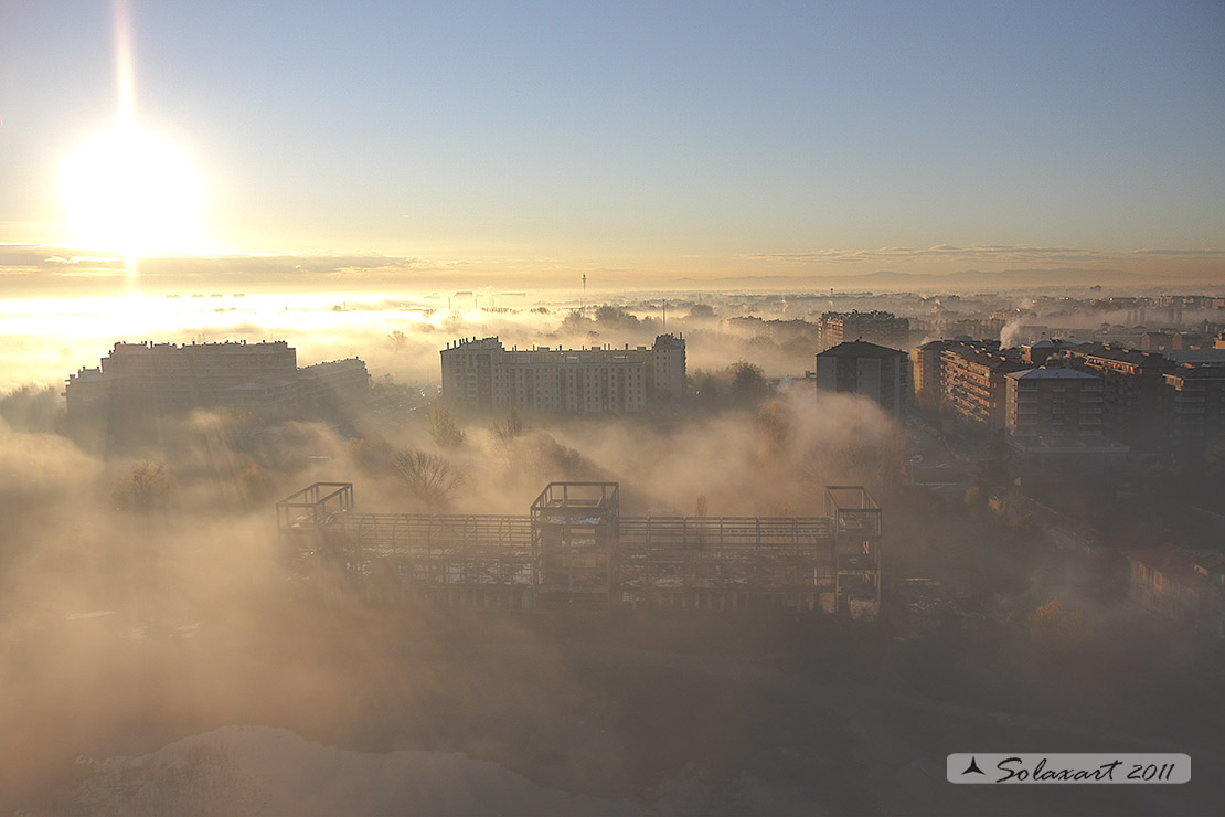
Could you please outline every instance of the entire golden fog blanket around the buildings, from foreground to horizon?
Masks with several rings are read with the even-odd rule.
[[[708,372],[718,399],[641,418],[524,416],[513,435],[500,434],[505,416],[458,416],[463,441],[447,445],[431,435],[432,391],[415,387],[409,405],[342,424],[258,429],[196,413],[168,421],[160,447],[74,441],[54,392],[12,390],[97,365],[114,338],[103,343],[105,323],[28,336],[0,401],[0,808],[1192,813],[1215,802],[1207,778],[1139,800],[948,790],[944,755],[998,746],[1192,751],[1210,768],[1219,688],[1198,674],[1193,641],[1126,604],[1117,566],[910,485],[905,424],[853,396],[767,388],[802,360],[728,331],[728,317],[764,306],[735,298],[707,296],[713,315],[701,317],[696,298],[668,299],[666,328],[685,333],[690,374]],[[267,306],[267,323],[257,303],[162,331],[137,310],[132,331],[149,337],[129,339],[285,338],[300,365],[355,354],[390,388],[436,383],[454,338],[637,345],[664,328],[654,296],[603,318],[594,304],[526,295],[494,307],[505,311],[443,300],[321,296]],[[56,343],[71,365],[31,374],[51,371]],[[730,391],[736,364],[760,367],[760,391]],[[393,467],[407,450],[445,462],[454,486],[414,491]],[[944,589],[913,604],[897,593],[877,625],[381,605],[320,593],[273,516],[317,480],[352,481],[359,511],[524,514],[564,479],[620,483],[625,513],[685,516],[820,516],[826,485],[865,485],[884,508],[887,592],[916,577]]]

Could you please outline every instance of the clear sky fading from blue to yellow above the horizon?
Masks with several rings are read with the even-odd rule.
[[[1221,42],[1221,1],[4,0],[0,280],[1225,284]]]

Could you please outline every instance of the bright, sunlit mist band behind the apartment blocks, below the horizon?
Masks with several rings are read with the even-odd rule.
[[[815,348],[773,344],[726,326],[731,317],[804,317],[807,311],[791,315],[779,298],[707,295],[704,301],[677,293],[583,300],[543,292],[11,300],[0,311],[0,390],[27,383],[58,387],[78,369],[97,366],[116,341],[288,341],[298,350],[299,365],[359,356],[376,376],[436,383],[439,352],[459,338],[499,336],[507,348],[521,349],[621,347],[649,345],[668,331],[691,338],[691,370],[737,359],[763,366],[771,376],[812,369]]]

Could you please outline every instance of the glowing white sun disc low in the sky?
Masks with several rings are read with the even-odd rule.
[[[129,261],[198,249],[200,176],[173,141],[119,125],[64,157],[60,170],[74,246],[121,252]]]

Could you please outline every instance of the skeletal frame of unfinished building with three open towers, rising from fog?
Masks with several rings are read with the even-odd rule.
[[[370,599],[480,609],[784,608],[872,620],[882,512],[861,486],[826,489],[824,516],[621,516],[617,483],[550,483],[527,516],[360,513],[352,483],[277,502],[307,572]]]

